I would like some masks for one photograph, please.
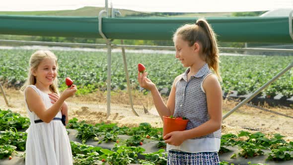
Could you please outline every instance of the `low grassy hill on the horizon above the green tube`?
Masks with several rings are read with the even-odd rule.
[[[104,7],[85,6],[75,10],[56,10],[56,11],[0,11],[4,15],[52,15],[52,16],[98,16]],[[140,12],[126,9],[118,9],[121,16],[176,16],[176,17],[221,17],[232,16],[232,12],[215,13],[171,13],[171,12]]]

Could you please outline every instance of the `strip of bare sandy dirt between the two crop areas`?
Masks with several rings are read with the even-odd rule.
[[[0,92],[0,109],[10,109],[27,116],[23,95],[16,89],[4,88],[9,105]],[[111,112],[107,118],[107,93],[98,91],[92,94],[73,96],[67,100],[69,104],[69,119],[95,124],[100,122],[117,123],[118,126],[136,127],[142,122],[150,123],[153,127],[162,127],[162,121],[153,106],[151,95],[132,91],[134,109],[132,112],[129,96],[125,91],[115,91],[111,94]],[[163,98],[166,102],[167,97]],[[232,109],[237,102],[223,100],[223,115]],[[266,109],[293,116],[293,109],[288,107],[269,107]],[[286,136],[284,139],[293,141],[293,119],[266,112],[249,106],[242,106],[228,116],[222,123],[222,133],[238,134],[239,131],[262,132],[268,137],[275,133]]]

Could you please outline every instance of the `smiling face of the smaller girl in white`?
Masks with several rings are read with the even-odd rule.
[[[55,59],[44,59],[39,64],[37,70],[33,71],[33,75],[36,77],[37,82],[40,85],[50,86],[53,84],[57,76]]]

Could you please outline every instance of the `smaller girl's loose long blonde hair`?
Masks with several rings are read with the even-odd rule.
[[[40,65],[40,63],[45,59],[54,59],[56,62],[56,71],[58,71],[58,64],[57,64],[57,57],[55,54],[49,50],[38,50],[33,53],[29,60],[29,69],[28,69],[28,76],[25,83],[21,86],[20,91],[23,92],[28,85],[36,84],[37,80],[36,77],[32,74],[33,71],[36,71]],[[59,94],[58,90],[58,79],[54,80],[53,84],[49,86],[49,89],[52,92]]]

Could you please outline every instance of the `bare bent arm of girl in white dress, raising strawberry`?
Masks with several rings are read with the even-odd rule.
[[[49,123],[60,111],[64,101],[68,97],[73,96],[76,90],[75,85],[65,89],[60,98],[48,109],[46,109],[40,95],[38,95],[38,93],[31,87],[28,87],[25,90],[25,98],[29,110],[31,112],[35,112],[36,115],[44,122]]]

